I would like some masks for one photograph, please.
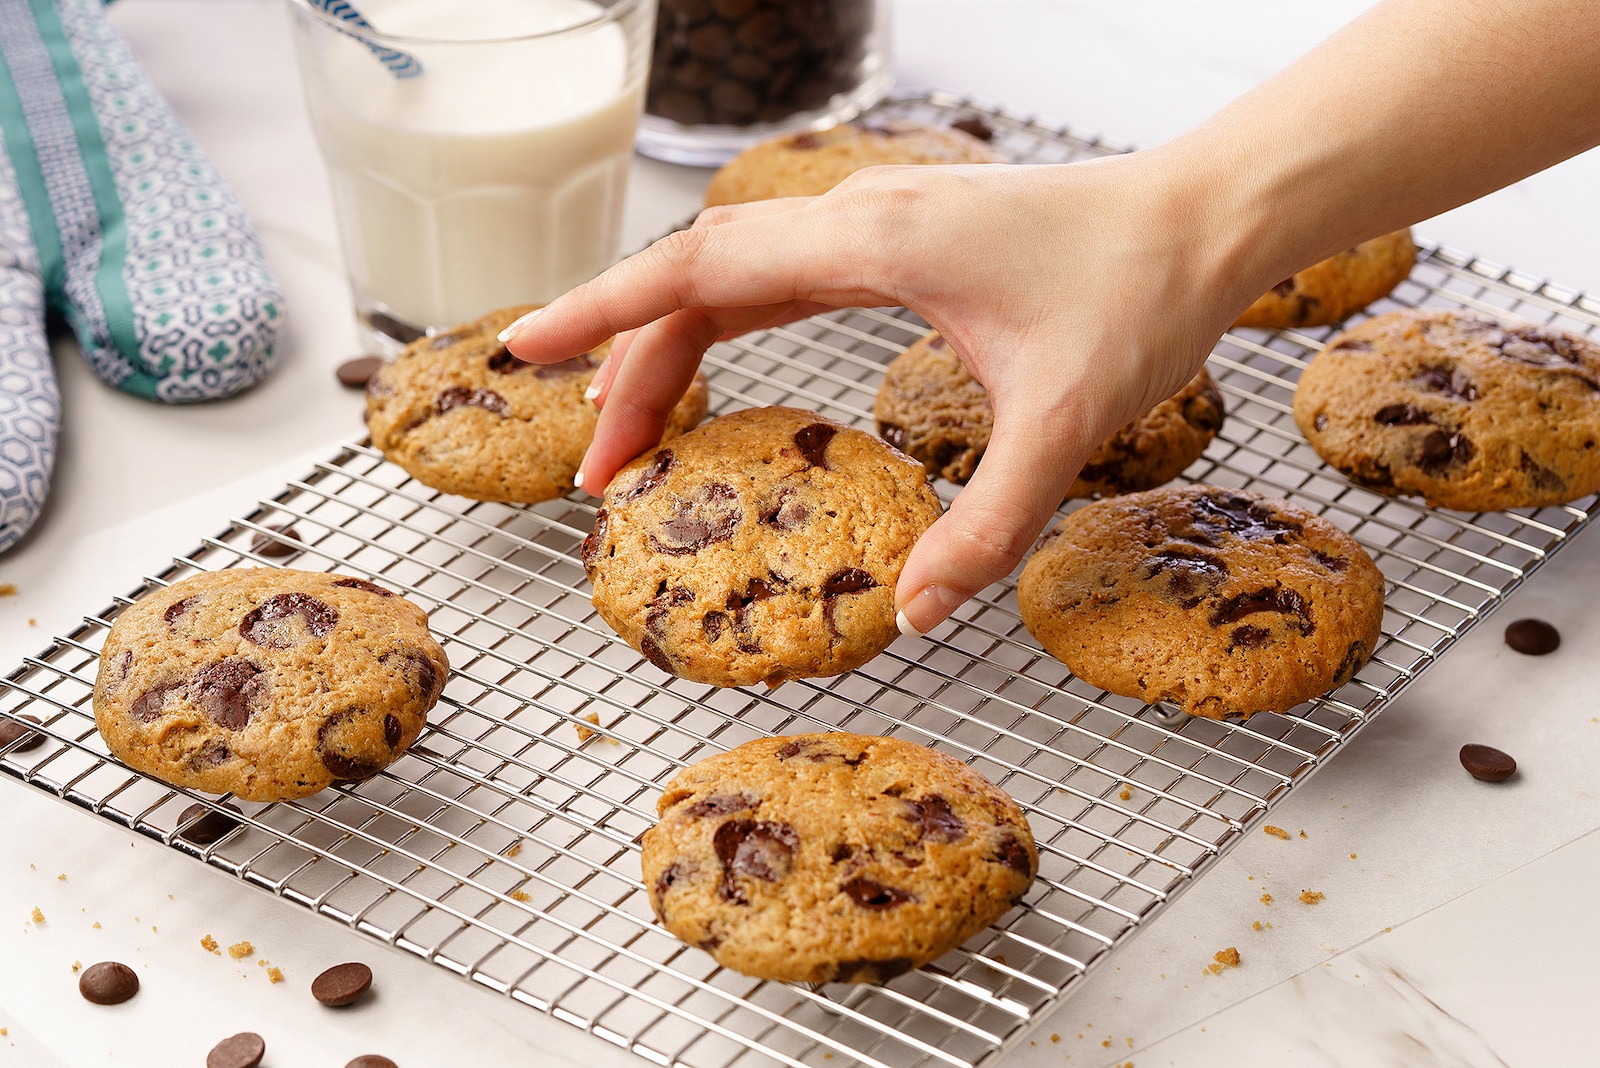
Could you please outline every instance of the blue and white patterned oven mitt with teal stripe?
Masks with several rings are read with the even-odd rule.
[[[46,310],[106,382],[181,403],[261,381],[282,309],[238,198],[101,0],[0,0],[0,552],[50,489]]]

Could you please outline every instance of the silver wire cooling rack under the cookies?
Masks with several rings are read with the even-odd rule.
[[[981,114],[1016,160],[1122,150],[944,94],[877,114]],[[1402,305],[1600,328],[1594,301],[1442,248],[1371,310]],[[922,333],[904,310],[850,310],[720,344],[706,360],[714,408],[795,404],[870,428],[883,365]],[[1326,515],[1387,579],[1373,660],[1286,715],[1190,719],[1088,686],[1024,630],[1011,580],[928,640],[899,640],[838,678],[774,692],[675,679],[589,603],[578,561],[587,500],[474,502],[349,444],[16,668],[0,718],[42,723],[0,747],[0,771],[662,1065],[990,1062],[1589,521],[1594,497],[1464,515],[1330,470],[1290,416],[1294,379],[1328,333],[1224,337],[1210,368],[1227,424],[1186,473]],[[283,526],[299,540],[274,547]],[[264,553],[282,547],[291,555]],[[198,798],[106,755],[90,703],[96,656],[141,595],[256,564],[403,592],[429,611],[454,671],[427,732],[384,774],[240,804],[238,827],[211,841],[179,820]],[[638,836],[666,779],[752,737],[816,729],[933,745],[1005,787],[1040,843],[1027,902],[882,988],[757,982],[661,931]]]

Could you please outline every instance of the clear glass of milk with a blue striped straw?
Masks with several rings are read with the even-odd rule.
[[[290,5],[376,350],[542,304],[616,259],[656,0]]]

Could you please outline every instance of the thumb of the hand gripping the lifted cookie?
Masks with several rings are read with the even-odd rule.
[[[925,635],[1022,560],[1094,444],[1082,420],[995,404],[978,472],[917,540],[894,588],[901,633]],[[1054,424],[1054,425],[1051,425]]]

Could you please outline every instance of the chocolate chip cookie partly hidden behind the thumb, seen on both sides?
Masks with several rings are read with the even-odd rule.
[[[1109,497],[1168,483],[1194,464],[1224,419],[1222,392],[1205,368],[1184,389],[1106,438],[1067,499]],[[989,392],[938,331],[918,339],[883,373],[872,404],[878,433],[922,460],[930,478],[966,483],[989,448]]]

